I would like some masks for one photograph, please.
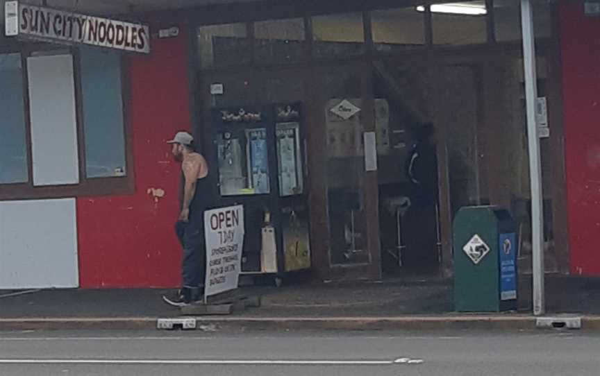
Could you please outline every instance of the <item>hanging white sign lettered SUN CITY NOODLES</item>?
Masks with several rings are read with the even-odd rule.
[[[5,3],[5,18],[5,33],[8,37],[150,52],[147,25],[30,6],[19,1]]]

